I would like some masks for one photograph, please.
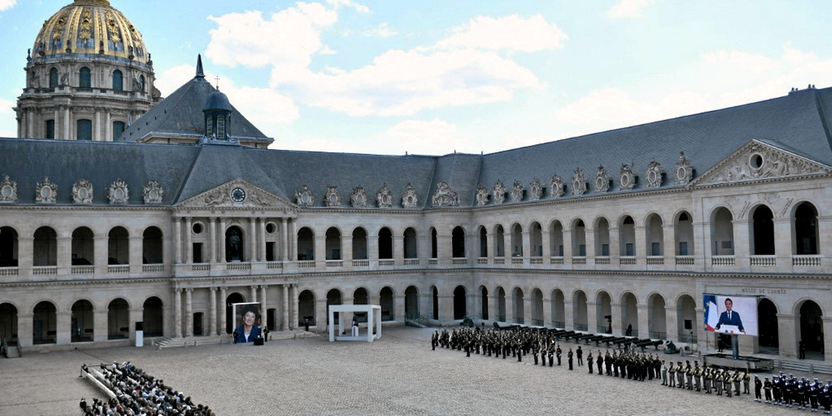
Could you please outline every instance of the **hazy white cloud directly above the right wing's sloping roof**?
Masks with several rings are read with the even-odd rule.
[[[785,45],[780,57],[717,51],[664,82],[646,80],[638,87],[604,87],[554,111],[558,136],[660,121],[702,111],[783,97],[792,87],[832,84],[832,60]],[[690,80],[687,83],[680,79]]]

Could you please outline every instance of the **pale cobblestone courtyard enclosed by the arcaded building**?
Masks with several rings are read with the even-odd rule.
[[[81,397],[105,397],[78,378],[81,364],[124,360],[218,415],[796,414],[757,404],[753,394],[728,399],[668,389],[661,381],[587,374],[586,367],[535,367],[531,354],[518,363],[432,351],[432,331],[385,327],[374,343],[329,343],[321,335],[262,347],[88,349],[0,359],[0,415],[79,414]],[[577,345],[562,346],[565,356]]]

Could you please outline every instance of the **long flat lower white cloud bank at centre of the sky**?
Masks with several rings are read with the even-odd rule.
[[[517,62],[473,49],[391,50],[366,67],[337,75],[307,70],[285,79],[285,74],[273,72],[273,82],[300,102],[351,116],[409,116],[428,108],[505,102],[518,88],[541,86]]]

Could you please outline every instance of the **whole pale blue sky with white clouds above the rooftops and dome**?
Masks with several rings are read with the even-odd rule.
[[[16,135],[27,48],[68,2],[0,0],[0,136]],[[201,53],[283,149],[489,153],[832,86],[832,2],[111,4],[163,96]]]

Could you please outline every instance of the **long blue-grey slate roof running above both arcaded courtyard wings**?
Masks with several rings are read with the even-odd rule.
[[[206,82],[191,82],[180,90],[195,85],[203,88],[206,96],[214,91]],[[201,114],[204,102],[178,102],[177,96],[175,92],[153,109],[162,115],[174,114],[156,127],[146,125],[148,130],[182,120],[182,114]],[[495,181],[503,181],[507,191],[514,181],[528,189],[537,177],[547,188],[545,199],[552,175],[562,176],[570,187],[576,168],[592,182],[598,166],[604,166],[613,183],[609,192],[617,192],[620,166],[633,164],[636,176],[640,176],[634,190],[644,189],[646,166],[653,160],[672,176],[679,152],[684,151],[701,175],[751,140],[832,166],[830,109],[832,89],[809,89],[764,102],[484,156],[375,156],[243,146],[7,139],[0,140],[0,175],[17,182],[17,204],[33,204],[37,182],[48,176],[57,184],[57,204],[71,204],[72,184],[87,179],[94,186],[92,204],[106,205],[107,189],[121,178],[130,186],[128,203],[136,205],[143,204],[141,189],[151,180],[159,181],[164,189],[162,205],[175,205],[227,181],[242,179],[292,202],[295,191],[306,185],[314,196],[314,207],[324,206],[328,187],[337,186],[342,208],[349,208],[349,196],[356,186],[364,187],[368,207],[374,207],[376,191],[383,184],[389,186],[394,208],[400,208],[405,186],[412,184],[418,196],[416,209],[432,207],[431,198],[438,182],[443,181],[458,194],[459,206],[470,207],[477,206],[478,184],[489,193]],[[237,123],[239,126],[239,119]],[[661,186],[676,185],[668,177]],[[589,190],[587,196],[593,194],[592,184]],[[563,197],[582,196],[567,191]]]

